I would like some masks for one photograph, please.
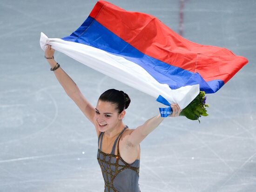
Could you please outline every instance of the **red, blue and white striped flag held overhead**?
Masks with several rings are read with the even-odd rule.
[[[181,109],[199,91],[218,91],[248,63],[226,48],[186,40],[152,15],[103,0],[71,35],[57,39],[41,33],[41,48],[47,44],[155,98],[162,95]]]

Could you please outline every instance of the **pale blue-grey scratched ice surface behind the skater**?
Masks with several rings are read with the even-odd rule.
[[[141,142],[141,192],[256,192],[256,1],[109,0],[156,16],[176,33],[249,60],[208,117],[167,118]],[[65,93],[39,45],[71,34],[96,0],[0,0],[0,192],[103,192],[94,126]],[[183,20],[182,20],[183,17]],[[109,88],[131,98],[124,123],[159,113],[155,98],[55,52],[96,106]]]

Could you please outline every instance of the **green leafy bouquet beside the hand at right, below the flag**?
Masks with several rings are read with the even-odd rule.
[[[207,116],[205,107],[209,107],[209,105],[205,104],[206,96],[204,91],[200,91],[200,93],[195,97],[193,101],[189,103],[188,106],[186,106],[182,112],[180,113],[180,116],[186,116],[188,119],[191,120],[199,120],[199,117]]]

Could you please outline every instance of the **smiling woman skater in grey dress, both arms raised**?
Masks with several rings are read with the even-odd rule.
[[[94,108],[82,95],[78,86],[54,60],[54,49],[47,45],[45,58],[67,95],[92,122],[98,136],[97,159],[105,182],[104,192],[140,192],[140,143],[164,118],[160,113],[148,119],[143,125],[129,129],[122,119],[131,100],[123,91],[109,89],[101,94]],[[181,109],[171,104],[178,117]]]

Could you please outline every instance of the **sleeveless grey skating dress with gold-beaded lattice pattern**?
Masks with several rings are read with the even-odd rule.
[[[133,163],[129,164],[121,158],[119,153],[119,140],[126,128],[128,128],[128,126],[125,126],[115,139],[110,154],[101,151],[104,132],[101,132],[99,135],[97,160],[101,167],[102,176],[105,182],[104,192],[140,192],[138,183],[140,159],[136,159]],[[100,138],[101,144],[99,148]],[[115,145],[117,140],[117,155],[115,155]]]

